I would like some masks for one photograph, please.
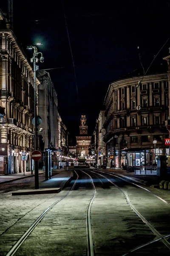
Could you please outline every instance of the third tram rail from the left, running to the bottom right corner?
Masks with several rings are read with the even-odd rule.
[[[93,172],[93,171],[89,171],[89,172]],[[94,172],[94,173],[96,174],[97,172]],[[153,225],[150,224],[150,222],[147,221],[147,219],[144,218],[144,216],[143,216],[140,212],[138,212],[138,210],[137,210],[137,209],[133,206],[133,204],[130,202],[130,198],[128,197],[127,193],[126,193],[123,189],[121,189],[119,186],[117,186],[114,182],[112,182],[112,181],[109,180],[107,177],[105,177],[104,175],[99,174],[99,173],[97,173],[97,174],[100,175],[100,176],[102,176],[102,177],[104,177],[105,179],[107,179],[111,184],[113,184],[114,186],[116,186],[116,188],[118,188],[118,189],[125,195],[126,201],[127,201],[127,203],[129,204],[130,208],[133,210],[133,212],[135,212],[136,215],[139,216],[139,218],[147,225],[147,227],[149,227],[150,230],[151,230],[157,237],[160,238],[160,241],[162,241],[162,242],[164,243],[164,245],[170,250],[170,242],[167,241],[164,236],[161,236],[161,234],[153,227]]]

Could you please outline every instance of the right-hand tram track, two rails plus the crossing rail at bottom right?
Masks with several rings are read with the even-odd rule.
[[[133,212],[135,212],[136,215],[138,215],[139,218],[140,218],[140,219],[147,225],[147,227],[153,232],[153,234],[156,235],[156,238],[155,238],[154,240],[149,241],[149,242],[147,242],[146,244],[142,244],[142,245],[140,245],[139,247],[136,247],[136,248],[130,250],[129,252],[123,254],[122,256],[126,256],[126,255],[128,255],[128,254],[130,254],[130,253],[132,253],[132,252],[135,252],[135,251],[137,251],[137,250],[143,248],[143,247],[147,247],[148,245],[153,244],[153,243],[155,243],[155,242],[157,242],[157,241],[163,242],[164,245],[170,250],[170,242],[167,241],[167,239],[170,237],[170,235],[169,235],[169,234],[168,234],[167,236],[161,235],[161,234],[156,230],[156,228],[153,227],[153,225],[152,225],[149,221],[147,221],[146,218],[144,218],[144,216],[136,209],[136,207],[133,206],[133,204],[132,204],[131,201],[130,201],[130,198],[129,198],[128,195],[127,195],[127,193],[126,193],[122,188],[120,188],[119,186],[117,186],[114,182],[112,182],[110,179],[108,179],[108,178],[105,177],[104,175],[101,175],[101,174],[98,173],[98,172],[101,172],[101,171],[96,171],[96,170],[95,170],[95,172],[94,172],[94,171],[89,171],[89,170],[88,170],[88,172],[93,172],[94,174],[100,175],[100,176],[104,177],[105,179],[107,179],[111,184],[113,184],[114,186],[116,186],[116,188],[118,188],[118,189],[125,195],[126,201],[127,201],[127,203],[129,204],[130,208],[133,210]],[[150,190],[148,190],[148,189],[146,189],[146,188],[144,188],[144,187],[142,187],[142,186],[139,186],[139,185],[137,185],[137,184],[135,184],[135,183],[129,182],[129,181],[127,181],[127,180],[125,180],[125,179],[123,179],[123,178],[117,176],[117,175],[112,175],[112,174],[110,174],[110,173],[108,173],[108,172],[102,172],[102,173],[105,173],[105,174],[108,174],[108,175],[117,177],[117,178],[119,178],[119,179],[121,179],[121,180],[124,180],[124,181],[126,181],[127,183],[130,183],[130,184],[132,184],[132,185],[134,185],[134,186],[136,186],[136,187],[138,187],[138,188],[144,189],[145,191],[150,192],[153,196],[155,196],[156,198],[158,198],[159,200],[161,200],[164,204],[170,205],[167,201],[165,201],[164,199],[160,198],[159,196],[155,195],[153,192],[151,192]]]

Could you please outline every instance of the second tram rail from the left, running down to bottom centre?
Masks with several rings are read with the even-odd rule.
[[[81,170],[82,171],[82,170]],[[84,172],[84,171],[82,171]],[[86,215],[86,220],[87,220],[87,236],[88,236],[88,256],[94,256],[94,246],[93,246],[93,237],[92,237],[92,229],[91,229],[91,206],[93,204],[94,198],[96,196],[96,188],[94,186],[94,182],[92,177],[84,172],[86,175],[88,175],[91,178],[91,183],[93,185],[94,188],[94,193],[93,193],[93,197],[91,198],[91,201],[88,204],[88,210],[87,210],[87,215]]]

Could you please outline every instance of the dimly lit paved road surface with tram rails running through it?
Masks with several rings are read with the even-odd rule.
[[[115,176],[83,171],[77,169],[71,183],[58,194],[11,196],[12,190],[29,188],[34,177],[2,185],[0,255],[7,255],[55,202],[14,255],[92,256],[87,235],[90,203],[95,256],[170,255],[170,237],[163,239],[170,235],[170,191],[163,194],[159,189],[149,188],[150,193]]]

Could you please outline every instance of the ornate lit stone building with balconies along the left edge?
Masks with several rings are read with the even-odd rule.
[[[34,73],[0,13],[0,155],[1,174],[30,171],[34,148]],[[36,79],[37,86],[40,81]],[[4,151],[1,148],[5,148]],[[27,161],[21,160],[26,152]]]

